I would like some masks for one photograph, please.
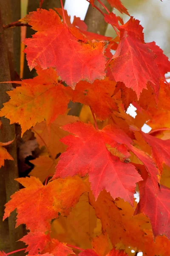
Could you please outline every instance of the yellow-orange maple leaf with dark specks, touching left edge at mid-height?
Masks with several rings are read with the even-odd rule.
[[[55,70],[37,67],[37,73],[34,79],[16,82],[22,86],[8,92],[11,99],[0,111],[0,116],[21,125],[22,134],[44,119],[47,125],[53,122],[59,114],[65,113],[69,102],[67,92],[71,88],[59,84]]]

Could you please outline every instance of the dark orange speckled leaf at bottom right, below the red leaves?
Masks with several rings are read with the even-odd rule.
[[[157,236],[154,242],[149,219],[144,214],[133,216],[134,209],[128,203],[120,199],[113,201],[105,191],[100,193],[97,201],[90,192],[89,200],[113,246],[125,248],[126,252],[130,246],[148,256],[168,254],[170,240]]]

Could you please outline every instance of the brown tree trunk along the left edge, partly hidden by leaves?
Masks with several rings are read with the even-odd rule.
[[[0,0],[0,81],[10,81],[14,76],[12,30],[8,29],[6,33],[3,32],[3,24],[11,23],[11,17],[10,0]],[[10,71],[12,76],[10,76]],[[11,90],[11,88],[11,84],[1,84],[0,108],[3,107],[4,102],[8,101],[9,97],[6,91]],[[8,142],[13,140],[15,137],[15,125],[10,125],[9,120],[3,117],[1,122],[0,141]],[[5,201],[8,201],[10,196],[19,189],[19,184],[14,180],[18,177],[16,141],[6,148],[14,158],[14,161],[6,160],[5,166],[0,169],[0,217],[3,215]],[[0,236],[2,236],[0,250],[5,250],[6,253],[21,247],[20,242],[16,243],[16,241],[23,236],[22,227],[15,229],[15,223],[16,213],[11,214],[8,220],[4,222],[2,218],[0,219]]]

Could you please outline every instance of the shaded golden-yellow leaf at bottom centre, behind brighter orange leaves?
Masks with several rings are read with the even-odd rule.
[[[97,224],[99,225],[97,226]],[[59,216],[51,224],[51,236],[82,249],[91,247],[91,239],[101,232],[101,223],[84,193],[68,217]]]

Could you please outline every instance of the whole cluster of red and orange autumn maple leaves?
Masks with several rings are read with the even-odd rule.
[[[24,40],[37,76],[13,81],[21,86],[7,92],[0,116],[19,123],[22,135],[31,129],[41,153],[31,176],[17,179],[25,188],[11,195],[3,219],[17,209],[16,227],[30,231],[21,239],[28,255],[169,255],[170,61],[145,43],[120,0],[108,3],[129,16],[123,23],[103,14],[116,38],[88,32],[78,17],[71,23],[63,8],[21,20],[37,31]],[[68,116],[70,101],[88,106],[88,122]],[[126,113],[130,104],[135,118]],[[1,166],[4,159],[12,157],[0,147]]]

